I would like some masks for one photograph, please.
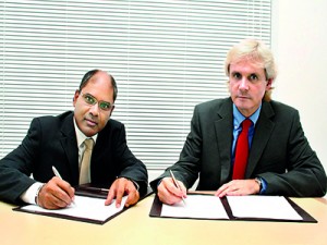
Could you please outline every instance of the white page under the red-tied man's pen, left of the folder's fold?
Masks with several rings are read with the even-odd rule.
[[[162,204],[161,217],[197,218],[197,219],[229,219],[220,201],[214,195],[189,195],[175,205]]]

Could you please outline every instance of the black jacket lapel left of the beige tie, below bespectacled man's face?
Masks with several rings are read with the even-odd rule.
[[[60,139],[62,148],[66,155],[68,163],[72,176],[72,183],[78,183],[78,149],[77,139],[73,123],[73,113],[64,119],[61,127],[62,138]]]

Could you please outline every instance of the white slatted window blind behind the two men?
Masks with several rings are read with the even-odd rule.
[[[73,110],[84,73],[118,82],[112,118],[149,170],[178,160],[196,103],[228,96],[241,39],[270,45],[270,0],[5,0],[0,3],[0,158],[33,118]]]

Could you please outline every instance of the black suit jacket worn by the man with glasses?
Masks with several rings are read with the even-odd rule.
[[[36,118],[16,149],[0,160],[0,198],[20,203],[20,195],[35,181],[48,182],[55,166],[72,186],[78,184],[78,149],[73,112]],[[28,177],[33,174],[33,179]],[[92,154],[92,183],[110,187],[117,176],[135,181],[141,193],[147,187],[147,171],[126,145],[124,125],[110,119],[98,133]]]

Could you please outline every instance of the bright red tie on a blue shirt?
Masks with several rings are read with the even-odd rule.
[[[235,147],[233,180],[244,180],[249,156],[249,128],[252,122],[250,119],[245,119],[242,122],[242,132],[239,135]]]

